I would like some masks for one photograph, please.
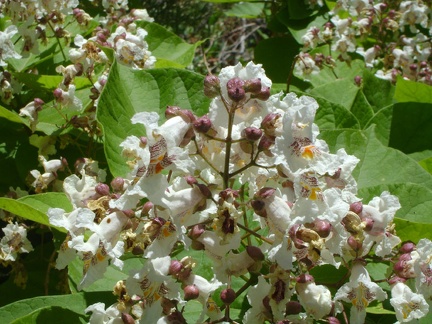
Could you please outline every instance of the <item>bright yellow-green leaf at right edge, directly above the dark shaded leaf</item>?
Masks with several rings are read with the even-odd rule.
[[[394,98],[398,102],[432,103],[432,87],[399,77],[396,83]]]

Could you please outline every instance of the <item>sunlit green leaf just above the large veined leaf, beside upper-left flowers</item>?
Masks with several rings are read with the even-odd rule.
[[[137,26],[148,32],[145,41],[148,43],[152,55],[157,59],[157,68],[188,66],[192,63],[197,46],[201,44],[201,42],[188,44],[176,34],[156,23],[140,21],[137,22]],[[171,64],[168,64],[169,62]]]

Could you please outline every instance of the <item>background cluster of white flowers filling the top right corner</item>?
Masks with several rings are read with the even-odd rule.
[[[328,44],[341,61],[349,63],[355,53],[363,56],[379,78],[396,81],[401,75],[432,84],[430,2],[340,0],[330,13],[328,23],[303,36],[304,52]],[[367,47],[358,45],[359,40]],[[307,79],[334,61],[322,53],[301,53],[296,64],[297,73]]]

